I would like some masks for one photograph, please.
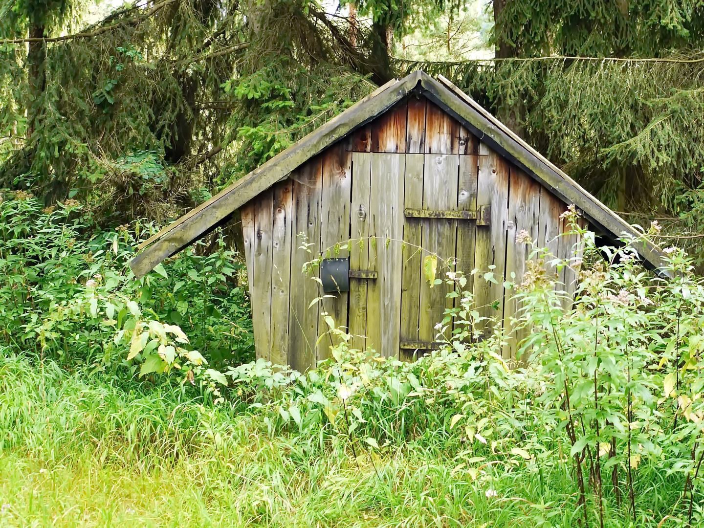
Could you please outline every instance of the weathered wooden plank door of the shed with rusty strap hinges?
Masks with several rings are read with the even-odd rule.
[[[429,284],[473,262],[477,156],[439,153],[353,153],[350,269],[377,273],[350,279],[352,346],[410,358],[436,348],[436,324],[453,306],[452,287]],[[424,218],[425,216],[425,218]],[[460,251],[458,251],[458,237]],[[471,247],[470,247],[471,246]]]

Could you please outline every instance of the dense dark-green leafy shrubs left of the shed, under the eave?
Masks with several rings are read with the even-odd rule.
[[[189,334],[184,350],[199,350],[215,365],[253,356],[249,300],[239,282],[244,265],[222,241],[209,256],[187,250],[158,274],[135,280],[127,261],[140,234],[153,228],[135,222],[103,230],[82,209],[75,200],[43,208],[21,191],[0,203],[4,344],[65,365],[110,368],[113,375],[124,365],[134,373],[139,365],[125,360],[131,341],[125,348],[115,337],[125,325],[133,331],[144,312],[180,325]]]

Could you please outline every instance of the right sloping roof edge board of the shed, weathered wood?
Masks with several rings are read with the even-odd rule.
[[[474,108],[476,103],[470,104],[467,101],[470,99],[469,96],[465,94],[460,99],[455,90],[451,91],[425,73],[421,77],[420,84],[426,97],[459,120],[480,141],[501,156],[508,158],[509,161],[534,177],[565,203],[574,203],[582,210],[589,222],[610,234],[615,239],[614,241],[620,239],[624,234],[634,239],[640,239],[642,244],[637,244],[634,249],[646,260],[646,263],[651,265],[660,275],[671,275],[664,268],[663,254],[657,246],[644,239],[643,235],[636,232],[631,225],[587,193],[577,182],[574,182],[572,178],[534,151],[522,139],[517,138],[513,132],[508,133],[504,130],[503,123],[493,116],[490,119],[484,115],[486,111],[483,108],[482,111]],[[461,92],[459,89],[457,90]]]

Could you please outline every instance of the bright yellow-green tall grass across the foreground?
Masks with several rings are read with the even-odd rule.
[[[558,458],[539,472],[442,425],[353,451],[344,434],[272,428],[277,406],[206,407],[170,386],[125,390],[0,357],[0,526],[578,525],[577,487]],[[467,463],[473,454],[486,460]],[[636,486],[641,512],[681,494],[681,479],[655,470]],[[606,519],[632,525],[616,511]]]

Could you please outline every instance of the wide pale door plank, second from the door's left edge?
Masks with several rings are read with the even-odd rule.
[[[379,278],[367,284],[367,346],[385,357],[399,350],[405,162],[405,154],[372,154],[369,265]]]

